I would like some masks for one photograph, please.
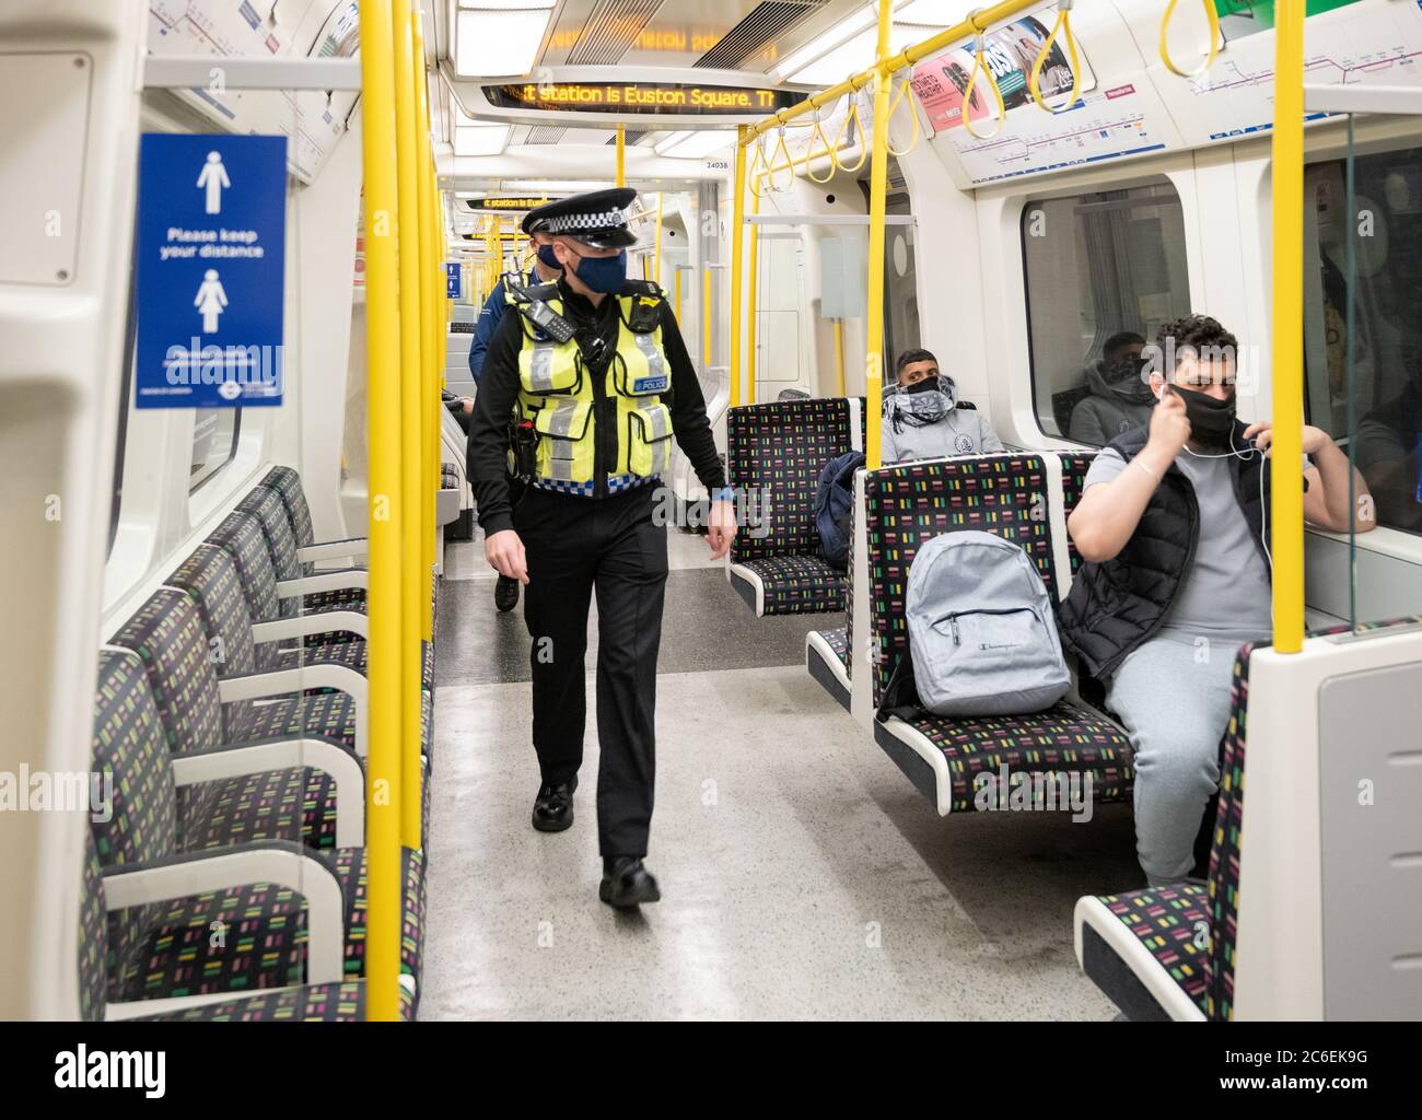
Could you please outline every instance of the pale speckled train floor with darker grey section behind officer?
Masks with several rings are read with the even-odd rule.
[[[630,914],[597,901],[596,623],[576,820],[536,833],[522,608],[495,611],[482,542],[448,547],[421,1018],[1112,1018],[1072,907],[1142,885],[1129,807],[939,817],[805,671],[835,617],[754,618],[668,532],[663,901]]]

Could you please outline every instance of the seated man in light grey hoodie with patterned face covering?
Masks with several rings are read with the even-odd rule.
[[[897,377],[897,389],[884,398],[884,463],[1004,451],[981,412],[958,406],[957,385],[927,350],[900,354]]]

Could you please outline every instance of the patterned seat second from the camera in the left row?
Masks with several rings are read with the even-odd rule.
[[[213,837],[208,813],[213,795],[206,789],[199,787],[179,806],[164,722],[145,674],[131,654],[107,652],[94,765],[112,775],[114,799],[109,812],[92,820],[100,864],[122,868],[179,856],[215,858],[239,841],[289,850],[289,843],[283,847],[282,839],[273,839],[279,829],[260,814],[245,819],[252,824],[246,831],[229,822],[223,834]],[[213,839],[219,844],[208,843]],[[309,860],[311,874],[328,876],[340,885],[344,974],[354,979],[363,974],[365,954],[364,849],[310,851]],[[402,876],[401,965],[418,976],[424,905],[419,853],[404,850]],[[301,984],[306,976],[306,903],[289,885],[235,881],[222,890],[115,910],[109,914],[108,942],[111,999],[282,988]]]

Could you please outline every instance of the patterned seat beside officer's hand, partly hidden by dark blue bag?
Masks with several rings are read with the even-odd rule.
[[[731,544],[729,578],[757,614],[845,608],[845,573],[819,554],[815,489],[825,465],[863,448],[863,402],[806,398],[727,414],[731,485],[748,524]]]

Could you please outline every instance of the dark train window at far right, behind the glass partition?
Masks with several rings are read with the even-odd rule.
[[[1308,422],[1348,435],[1348,361],[1358,469],[1378,524],[1422,534],[1422,149],[1304,172],[1304,375]],[[1348,283],[1348,230],[1354,280]],[[1349,289],[1352,291],[1349,330]]]

